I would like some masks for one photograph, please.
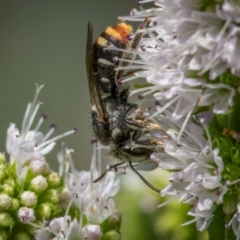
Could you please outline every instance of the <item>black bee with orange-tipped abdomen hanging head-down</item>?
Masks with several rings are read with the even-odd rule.
[[[146,136],[150,131],[162,128],[143,117],[137,104],[128,102],[129,85],[118,84],[118,79],[123,76],[124,71],[115,71],[115,68],[127,65],[128,62],[124,60],[133,59],[134,54],[107,49],[109,46],[115,46],[135,50],[142,33],[137,32],[130,39],[131,33],[130,25],[119,23],[106,28],[93,44],[93,28],[90,23],[88,24],[86,68],[92,105],[92,128],[100,143],[111,147],[108,155],[120,161],[110,166],[94,182],[104,177],[107,171],[128,162],[131,169],[150,188],[160,192],[134,168],[132,162],[150,158],[156,146],[162,142]]]

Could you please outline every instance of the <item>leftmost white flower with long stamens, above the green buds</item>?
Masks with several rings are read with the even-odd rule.
[[[75,132],[75,130],[71,130],[48,140],[55,129],[54,125],[51,126],[50,131],[45,136],[42,132],[38,131],[46,118],[45,115],[42,115],[36,127],[33,130],[30,130],[37,111],[41,105],[41,102],[39,102],[37,98],[42,87],[43,86],[39,87],[37,85],[33,102],[29,103],[27,106],[21,132],[13,123],[10,124],[7,130],[7,153],[10,154],[11,163],[16,161],[17,173],[21,177],[23,177],[26,172],[26,163],[34,160],[44,161],[44,156],[52,150],[56,140]]]

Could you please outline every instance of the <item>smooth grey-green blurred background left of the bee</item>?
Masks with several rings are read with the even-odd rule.
[[[133,7],[134,0],[0,2],[1,151],[9,123],[21,127],[35,83],[44,84],[39,115],[48,118],[42,130],[52,123],[57,125],[56,134],[77,127],[77,134],[64,141],[75,150],[78,167],[88,169],[92,130],[85,70],[87,24],[93,23],[96,37]],[[55,168],[57,151],[56,147],[49,157]]]

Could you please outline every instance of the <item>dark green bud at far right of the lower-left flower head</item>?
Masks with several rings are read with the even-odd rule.
[[[119,211],[114,210],[110,216],[102,223],[103,232],[108,232],[110,230],[118,231],[121,227],[122,215]]]

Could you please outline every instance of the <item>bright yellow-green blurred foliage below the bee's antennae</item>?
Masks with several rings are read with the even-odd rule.
[[[150,177],[151,174],[151,177]],[[163,188],[166,183],[158,182],[159,174],[166,179],[166,173],[155,171],[146,173],[147,180],[154,186]],[[191,220],[186,212],[189,206],[176,201],[166,206],[157,206],[167,199],[148,188],[131,171],[121,177],[122,189],[116,196],[118,210],[122,212],[122,240],[207,240],[207,232],[198,232],[195,223],[181,224]]]

